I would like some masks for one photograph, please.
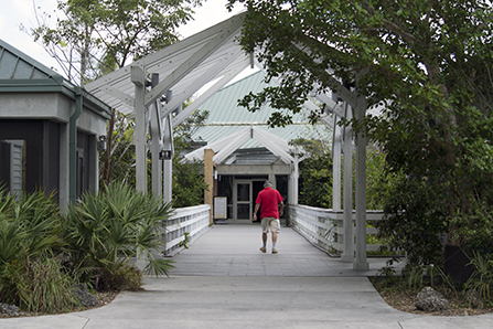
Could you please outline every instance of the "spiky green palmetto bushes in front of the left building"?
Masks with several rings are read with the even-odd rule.
[[[142,272],[167,274],[172,261],[156,259],[160,221],[169,204],[136,193],[125,183],[87,193],[61,216],[53,194],[36,191],[15,200],[0,189],[0,303],[32,312],[62,312],[78,306],[73,287],[82,279],[96,289],[138,289]]]

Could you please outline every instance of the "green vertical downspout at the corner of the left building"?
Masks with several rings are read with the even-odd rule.
[[[75,112],[68,123],[68,200],[73,204],[77,199],[77,119],[83,110],[83,93],[81,87],[74,87]]]

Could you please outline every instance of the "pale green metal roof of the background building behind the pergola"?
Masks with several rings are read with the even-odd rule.
[[[324,125],[310,125],[307,117],[308,110],[293,115],[292,125],[286,127],[270,128],[267,120],[275,112],[268,105],[264,105],[260,110],[251,113],[244,107],[238,106],[238,99],[243,98],[249,92],[258,93],[268,84],[264,81],[265,74],[259,71],[236,83],[233,83],[218,91],[201,109],[210,112],[204,126],[199,128],[193,138],[206,142],[216,141],[225,136],[234,134],[245,126],[259,126],[277,137],[291,140],[294,138],[315,138],[328,139],[330,131]],[[261,147],[256,140],[250,139],[245,142],[240,149]]]

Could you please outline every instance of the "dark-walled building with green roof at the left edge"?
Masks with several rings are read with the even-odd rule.
[[[98,187],[111,109],[0,40],[0,184],[54,191],[62,208]]]

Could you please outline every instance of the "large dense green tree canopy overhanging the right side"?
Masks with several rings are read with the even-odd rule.
[[[242,45],[267,79],[281,78],[242,105],[270,102],[279,109],[271,124],[282,125],[289,114],[280,109],[296,113],[313,93],[342,84],[385,106],[355,127],[381,144],[388,172],[440,191],[429,206],[446,205],[452,230],[470,224],[474,204],[493,202],[490,0],[236,2],[248,8]]]

